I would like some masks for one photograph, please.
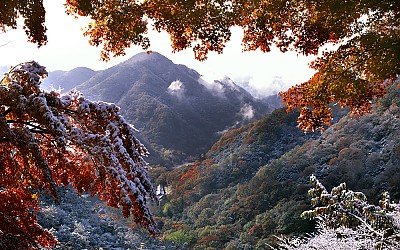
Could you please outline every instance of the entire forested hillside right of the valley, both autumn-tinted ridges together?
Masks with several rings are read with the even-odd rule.
[[[284,111],[227,132],[203,161],[156,169],[170,192],[154,208],[160,228],[166,238],[189,239],[191,249],[265,249],[274,234],[313,230],[300,218],[310,208],[311,174],[328,189],[346,182],[373,202],[383,191],[398,201],[399,107],[394,86],[372,113],[345,116],[320,136],[296,132],[296,114]]]

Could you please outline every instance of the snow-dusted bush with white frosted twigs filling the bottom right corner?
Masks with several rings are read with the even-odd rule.
[[[342,183],[330,193],[317,180],[309,190],[314,209],[303,218],[316,219],[317,231],[304,237],[279,238],[282,249],[399,249],[400,204],[383,193],[379,206],[368,203],[361,192]]]

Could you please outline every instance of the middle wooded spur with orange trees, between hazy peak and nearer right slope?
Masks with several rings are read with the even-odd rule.
[[[190,249],[222,249],[226,240],[236,237],[243,225],[235,220],[246,218],[231,216],[224,204],[230,204],[239,184],[249,181],[261,166],[316,136],[297,129],[297,116],[285,109],[275,110],[226,132],[199,162],[173,171],[153,169],[156,184],[168,190],[161,207],[154,207],[165,235],[184,230],[197,239]],[[182,226],[174,228],[176,224]]]

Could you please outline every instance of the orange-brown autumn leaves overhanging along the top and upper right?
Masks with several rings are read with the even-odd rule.
[[[192,47],[198,60],[222,53],[233,26],[244,31],[244,50],[277,46],[319,55],[311,64],[316,74],[281,93],[289,110],[300,108],[305,131],[330,124],[333,102],[356,115],[370,111],[372,99],[400,73],[397,0],[66,0],[65,6],[68,14],[92,19],[84,35],[103,46],[103,60],[131,45],[150,48],[148,24],[170,34],[174,51]],[[18,15],[30,40],[45,44],[42,0],[0,3],[0,27],[15,28]],[[331,45],[335,49],[323,51]]]

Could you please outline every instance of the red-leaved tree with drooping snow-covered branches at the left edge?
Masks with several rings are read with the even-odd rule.
[[[74,186],[122,207],[151,233],[145,147],[114,104],[91,102],[72,92],[40,89],[47,75],[36,62],[20,64],[0,81],[0,248],[53,246],[37,224],[38,191],[56,199],[56,186]]]

